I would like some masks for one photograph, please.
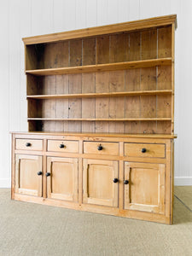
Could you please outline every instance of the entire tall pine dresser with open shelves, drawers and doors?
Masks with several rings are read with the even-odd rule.
[[[12,199],[172,224],[175,20],[24,38]]]

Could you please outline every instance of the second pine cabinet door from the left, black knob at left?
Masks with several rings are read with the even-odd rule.
[[[47,158],[47,197],[78,201],[78,159]]]

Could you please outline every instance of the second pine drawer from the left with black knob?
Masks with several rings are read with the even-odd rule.
[[[79,153],[78,141],[48,140],[48,151]]]

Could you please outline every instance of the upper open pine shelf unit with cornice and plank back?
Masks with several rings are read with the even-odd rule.
[[[29,131],[173,133],[175,20],[24,38]]]

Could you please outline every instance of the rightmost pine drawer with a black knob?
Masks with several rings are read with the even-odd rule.
[[[125,143],[125,155],[164,158],[166,156],[166,147],[165,144]]]

